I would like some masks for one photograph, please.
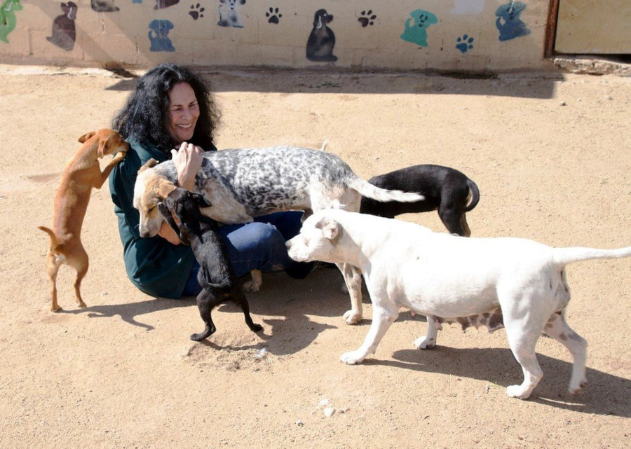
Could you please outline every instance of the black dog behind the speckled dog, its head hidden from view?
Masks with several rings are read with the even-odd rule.
[[[372,177],[368,182],[381,188],[419,192],[425,195],[425,200],[379,202],[362,197],[360,212],[363,214],[392,219],[399,214],[438,209],[438,215],[450,233],[471,235],[465,214],[480,201],[480,191],[475,182],[458,170],[442,165],[413,165]]]

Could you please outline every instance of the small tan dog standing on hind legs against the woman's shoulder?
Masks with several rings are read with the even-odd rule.
[[[88,254],[81,244],[81,226],[86,216],[92,188],[101,188],[109,172],[121,162],[129,149],[121,136],[108,129],[88,132],[79,137],[83,144],[74,158],[67,163],[62,181],[55,195],[53,229],[38,226],[50,235],[50,248],[46,254],[50,278],[50,310],[61,310],[57,304],[57,272],[62,264],[76,270],[74,293],[80,308],[86,307],[81,299],[81,279],[88,272]],[[99,158],[114,154],[101,171]]]

